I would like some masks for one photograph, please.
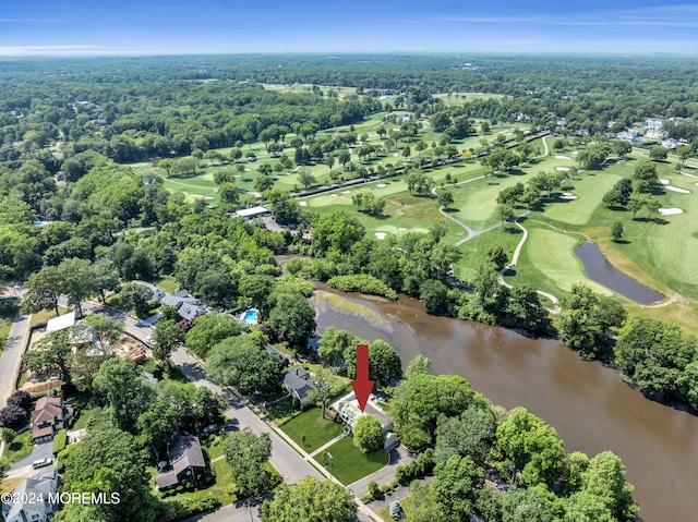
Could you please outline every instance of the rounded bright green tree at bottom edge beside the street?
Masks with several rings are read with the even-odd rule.
[[[358,506],[339,484],[306,476],[293,485],[282,485],[274,500],[262,506],[264,522],[351,522]]]

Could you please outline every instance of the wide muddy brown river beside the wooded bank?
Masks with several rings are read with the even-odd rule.
[[[581,361],[554,340],[429,316],[419,301],[358,298],[378,312],[366,320],[314,298],[317,331],[328,326],[392,343],[402,365],[422,353],[436,374],[458,374],[496,404],[522,405],[553,425],[568,452],[611,450],[623,459],[646,522],[698,519],[698,417],[652,402],[611,368]]]

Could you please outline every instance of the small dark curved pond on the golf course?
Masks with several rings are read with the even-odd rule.
[[[640,304],[652,304],[664,299],[663,294],[637,282],[611,265],[595,243],[591,241],[583,242],[575,248],[575,254],[583,264],[589,279],[610,288],[621,295],[625,295]]]

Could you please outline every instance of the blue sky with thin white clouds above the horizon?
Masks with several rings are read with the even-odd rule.
[[[698,3],[590,0],[5,0],[0,56],[698,52]]]

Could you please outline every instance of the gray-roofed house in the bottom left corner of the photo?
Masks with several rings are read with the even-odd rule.
[[[58,479],[56,470],[39,478],[27,478],[12,491],[12,500],[2,505],[7,522],[47,522],[57,506],[49,502],[56,496]],[[38,501],[43,499],[43,501]]]

